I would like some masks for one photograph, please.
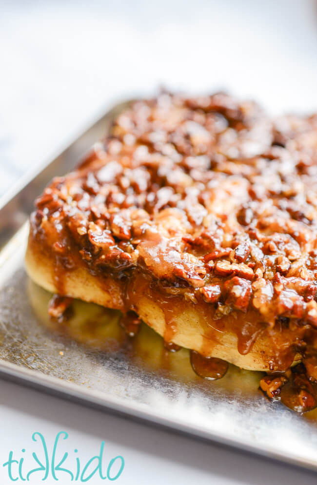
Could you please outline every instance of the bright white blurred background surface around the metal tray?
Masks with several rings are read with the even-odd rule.
[[[225,88],[274,113],[317,110],[317,2],[0,1],[0,195],[113,103],[153,94],[160,84]],[[20,458],[24,447],[28,465],[32,433],[52,447],[61,430],[69,433],[64,449],[78,448],[82,463],[102,440],[109,460],[123,455],[118,484],[317,481],[7,382],[0,382],[0,425],[4,485],[11,483],[2,467],[9,450]],[[60,483],[68,483],[62,475]]]

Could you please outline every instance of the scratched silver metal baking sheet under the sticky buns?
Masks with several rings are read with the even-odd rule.
[[[258,390],[260,373],[230,366],[219,381],[200,379],[188,350],[168,352],[144,324],[128,337],[118,325],[119,312],[98,305],[76,301],[67,324],[48,318],[51,295],[24,271],[25,221],[49,179],[70,170],[124,106],[99,120],[0,210],[0,375],[317,470],[317,410],[297,415],[270,403]]]

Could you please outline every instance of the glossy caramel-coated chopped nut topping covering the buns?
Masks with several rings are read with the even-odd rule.
[[[52,181],[32,230],[69,271],[137,268],[193,305],[217,303],[215,318],[252,311],[263,327],[316,328],[316,160],[316,116],[163,93],[133,103]]]

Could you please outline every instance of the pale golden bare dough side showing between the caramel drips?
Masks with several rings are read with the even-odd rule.
[[[52,293],[59,293],[60,286],[54,281],[56,263],[49,254],[30,234],[25,256],[26,271],[39,286]],[[101,283],[100,279],[93,276],[84,266],[63,274],[62,285],[64,294],[70,297],[97,303],[107,308],[122,310],[124,307],[120,284],[116,283],[113,277],[103,278]],[[134,310],[147,325],[164,338],[169,330],[164,312],[155,296],[154,298],[149,296],[150,288],[145,286],[140,290],[143,291],[139,291]],[[173,322],[175,333],[173,331],[173,337],[169,339],[171,342],[180,347],[196,350],[206,357],[223,359],[242,369],[258,371],[284,369],[285,363],[281,364],[278,357],[278,347],[285,345],[282,336],[278,343],[277,336],[269,335],[266,330],[255,339],[252,349],[242,355],[238,352],[236,334],[229,331],[225,333],[215,331],[213,335],[217,338],[217,342],[210,341],[210,326],[195,306],[184,301],[183,298],[179,298],[178,303],[183,311]],[[298,354],[294,357],[294,363],[299,360]],[[292,359],[288,359],[288,365],[291,363]]]

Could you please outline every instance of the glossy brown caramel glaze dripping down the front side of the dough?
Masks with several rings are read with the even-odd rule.
[[[33,237],[39,238],[43,255],[52,252],[55,258],[56,264],[52,277],[59,294],[65,295],[65,281],[73,269],[84,265],[98,278],[99,285],[104,286],[105,291],[110,293],[112,308],[114,309],[121,310],[123,313],[136,311],[141,294],[152,298],[164,313],[166,321],[164,340],[166,342],[173,342],[177,334],[177,317],[182,313],[183,304],[185,300],[188,302],[188,298],[196,312],[205,321],[202,346],[199,349],[202,355],[211,354],[221,333],[231,332],[235,334],[238,340],[238,351],[245,355],[252,350],[252,346],[261,332],[270,332],[269,338],[276,354],[275,361],[270,364],[271,369],[272,371],[275,369],[286,370],[292,364],[297,351],[302,353],[300,345],[303,341],[309,341],[305,336],[307,327],[304,325],[295,323],[291,328],[277,320],[274,328],[270,330],[269,324],[259,320],[257,310],[249,308],[248,318],[246,319],[242,311],[230,308],[230,304],[226,304],[221,299],[215,303],[206,302],[199,288],[193,288],[187,282],[179,280],[171,284],[164,279],[154,278],[146,265],[143,264],[142,266],[142,262],[139,262],[137,268],[131,266],[130,262],[122,262],[121,260],[112,263],[113,267],[102,264],[100,261],[97,265],[93,250],[91,250],[91,253],[85,250],[85,259],[83,260],[79,254],[80,245],[77,246],[77,243],[70,237],[68,226],[56,225],[57,234],[52,233],[51,246],[49,246],[46,236],[42,238],[42,230],[39,229],[36,215],[33,219],[31,219],[34,229]],[[53,242],[56,239],[58,239],[58,242]],[[222,283],[224,281],[223,284],[226,283],[226,278],[216,277],[213,281],[217,285],[220,284],[220,280]],[[228,314],[221,313],[226,310],[230,310]],[[286,350],[280,350],[281,330],[283,332],[283,349]]]

